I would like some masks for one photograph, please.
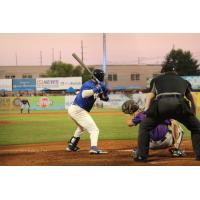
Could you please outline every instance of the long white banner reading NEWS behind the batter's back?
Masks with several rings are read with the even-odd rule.
[[[80,89],[82,85],[82,77],[66,77],[66,78],[37,78],[36,89],[43,90],[66,90],[70,87]]]

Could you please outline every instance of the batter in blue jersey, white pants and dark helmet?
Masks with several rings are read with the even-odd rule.
[[[84,131],[90,134],[91,148],[90,154],[106,153],[105,151],[97,148],[99,129],[92,119],[89,112],[91,111],[97,98],[103,101],[108,101],[108,90],[103,83],[104,72],[100,69],[93,71],[92,79],[85,82],[80,92],[77,94],[73,104],[68,109],[68,114],[72,120],[76,123],[77,129],[74,136],[69,140],[67,151],[78,151],[77,146],[80,136]]]

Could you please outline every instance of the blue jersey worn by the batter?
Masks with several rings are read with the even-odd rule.
[[[82,92],[83,90],[93,90],[96,88],[95,83],[92,80],[89,80],[87,82],[85,82],[81,89],[80,92],[77,94],[75,100],[74,100],[74,104],[80,106],[81,108],[83,108],[84,110],[90,112],[90,110],[92,109],[96,98],[93,96],[87,97],[87,98],[83,98],[82,97]],[[105,86],[102,87],[103,92],[105,92],[107,89]]]

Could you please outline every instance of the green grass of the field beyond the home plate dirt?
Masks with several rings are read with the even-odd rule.
[[[103,110],[95,110],[104,112]],[[116,115],[119,110],[112,111],[111,115],[93,115],[93,118],[100,129],[100,140],[104,139],[136,139],[138,127],[129,128],[126,125],[125,115]],[[53,111],[48,111],[49,115],[37,116],[28,114],[17,114],[16,116],[0,115],[0,121],[15,122],[13,124],[0,124],[0,145],[12,144],[33,144],[56,141],[67,141],[76,128],[75,124],[68,118],[66,111],[61,115],[54,115]],[[5,112],[1,112],[5,113]],[[11,112],[19,113],[19,112]],[[34,113],[42,113],[35,111]],[[47,113],[47,111],[45,111]],[[22,124],[23,123],[23,124]],[[186,137],[190,137],[184,128]],[[89,134],[83,135],[82,139],[88,140]]]

